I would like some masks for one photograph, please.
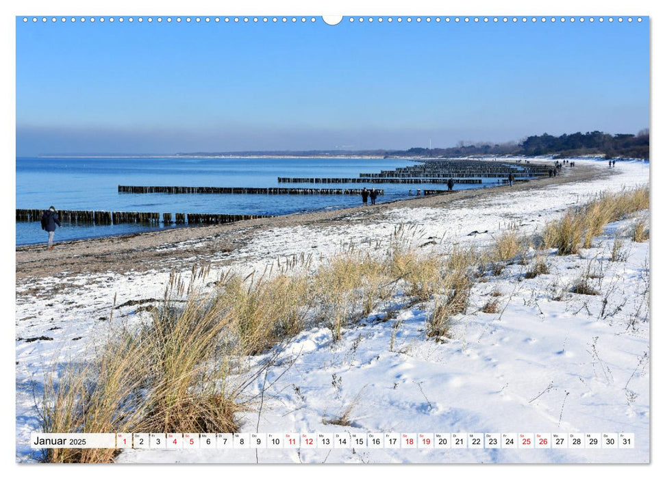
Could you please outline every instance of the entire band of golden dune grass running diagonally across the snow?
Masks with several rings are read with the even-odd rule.
[[[557,254],[577,253],[591,245],[607,222],[649,208],[649,188],[601,194],[588,205],[568,209],[547,223],[542,245]],[[227,275],[212,294],[199,294],[195,281],[210,265],[192,269],[187,283],[172,274],[162,303],[138,327],[119,326],[95,359],[70,364],[45,380],[41,405],[44,432],[234,432],[237,413],[250,407],[244,389],[260,372],[244,362],[314,324],[325,324],[334,340],[345,327],[375,311],[381,303],[405,295],[413,302],[434,300],[425,334],[439,341],[452,336],[453,317],[466,311],[471,289],[492,265],[525,253],[527,242],[507,229],[483,254],[470,247],[447,253],[419,253],[396,231],[384,251],[357,253],[352,248],[310,272],[241,278]],[[648,237],[637,222],[633,240]],[[618,252],[620,244],[615,242]],[[616,252],[615,252],[616,253]],[[614,254],[614,256],[618,255]],[[547,274],[538,256],[527,277]],[[592,275],[582,275],[572,292],[594,294]],[[184,297],[183,302],[174,297]],[[402,300],[403,301],[403,300]],[[497,311],[489,300],[483,310]],[[396,324],[394,333],[399,324]],[[391,350],[394,346],[394,337]],[[348,415],[347,415],[348,416]],[[114,450],[53,449],[53,463],[113,461]]]

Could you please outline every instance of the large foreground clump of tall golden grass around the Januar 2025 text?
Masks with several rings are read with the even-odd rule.
[[[177,292],[176,292],[177,293]],[[86,366],[45,380],[44,432],[234,432],[243,407],[240,350],[226,341],[231,316],[192,293],[168,300],[150,323],[112,331]],[[55,376],[58,376],[56,379]],[[47,450],[51,463],[107,463],[116,451]]]

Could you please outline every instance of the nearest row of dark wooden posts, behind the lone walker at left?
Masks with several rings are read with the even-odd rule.
[[[40,221],[43,209],[16,209],[16,221]],[[74,211],[58,210],[61,222],[71,224],[225,224],[256,218],[268,218],[269,215],[228,215],[216,213],[154,213],[145,211]]]

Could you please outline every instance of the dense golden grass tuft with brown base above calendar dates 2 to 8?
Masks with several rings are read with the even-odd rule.
[[[142,368],[151,391],[145,428],[137,432],[235,429],[239,372],[231,357],[242,350],[224,344],[233,317],[216,302],[192,294],[184,307],[165,305],[138,335],[151,348]],[[140,362],[138,363],[140,365]]]

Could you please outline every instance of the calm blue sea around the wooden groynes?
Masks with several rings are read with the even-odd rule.
[[[158,213],[227,213],[279,215],[344,208],[361,204],[349,195],[260,194],[120,194],[118,185],[221,187],[379,187],[386,192],[377,203],[402,198],[417,188],[445,185],[371,183],[277,183],[277,177],[357,177],[413,164],[399,159],[321,158],[16,158],[16,208],[155,211]],[[489,181],[485,185],[494,185]],[[455,185],[455,189],[483,185]],[[63,224],[56,241],[160,229],[122,224],[77,226]],[[162,226],[164,227],[164,226]],[[173,228],[175,226],[166,226]],[[181,226],[180,226],[181,227]],[[16,244],[45,242],[38,222],[16,223]]]

